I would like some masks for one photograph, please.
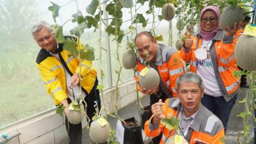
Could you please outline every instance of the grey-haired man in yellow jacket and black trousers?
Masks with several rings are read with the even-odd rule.
[[[96,89],[97,72],[92,67],[92,61],[75,58],[69,51],[63,49],[63,44],[58,44],[51,26],[44,21],[36,22],[31,29],[33,38],[41,50],[36,58],[36,67],[40,70],[47,93],[51,95],[56,106],[68,106],[79,95],[84,98],[87,108],[86,113],[90,120],[95,113],[95,108],[100,108],[99,90]],[[79,72],[81,74],[82,92],[79,92]],[[66,115],[66,128],[68,128],[68,109]],[[70,124],[68,137],[70,144],[82,143],[82,125]]]

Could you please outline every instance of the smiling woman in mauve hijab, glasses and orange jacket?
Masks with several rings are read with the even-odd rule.
[[[204,97],[202,104],[220,118],[225,132],[228,116],[234,106],[239,90],[240,77],[234,76],[238,70],[234,58],[236,38],[234,34],[241,24],[234,24],[234,29],[221,31],[220,10],[216,6],[206,6],[200,13],[200,32],[196,38],[188,36],[183,45],[181,56],[190,65],[190,71],[202,77]],[[191,92],[193,103],[193,92]]]

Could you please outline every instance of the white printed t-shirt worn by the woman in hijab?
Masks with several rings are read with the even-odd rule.
[[[209,49],[212,45],[212,40],[203,40],[201,49],[206,49],[207,56],[205,60],[196,59],[196,74],[202,77],[204,81],[204,93],[213,97],[220,97],[220,87],[218,85],[214,68],[209,54]]]

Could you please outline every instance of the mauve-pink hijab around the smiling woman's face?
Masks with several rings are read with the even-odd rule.
[[[212,10],[218,17],[218,26],[211,32],[207,32],[204,31],[202,29],[202,23],[201,23],[201,19],[202,19],[202,15],[204,14],[204,12],[206,12],[207,10]],[[220,30],[220,9],[216,6],[206,6],[200,13],[200,25],[199,25],[199,29],[200,29],[200,35],[203,37],[204,40],[212,40],[212,38],[214,38],[214,36],[216,35],[217,31]]]

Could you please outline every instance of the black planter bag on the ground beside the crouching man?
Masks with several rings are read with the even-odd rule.
[[[134,117],[124,120],[125,122],[136,122],[137,126],[124,125],[124,144],[143,144],[141,125]]]

